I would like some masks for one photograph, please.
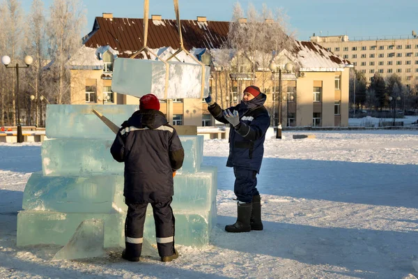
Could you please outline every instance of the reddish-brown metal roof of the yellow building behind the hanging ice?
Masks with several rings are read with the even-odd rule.
[[[99,47],[109,45],[118,50],[119,56],[130,56],[143,46],[143,19],[96,17],[93,31],[88,34],[84,45]],[[219,48],[226,41],[229,22],[198,22],[181,20],[183,44],[186,50],[195,48]],[[147,46],[151,49],[172,47],[178,50],[180,42],[176,20],[148,20]],[[127,53],[124,53],[127,52]]]

